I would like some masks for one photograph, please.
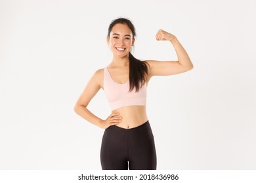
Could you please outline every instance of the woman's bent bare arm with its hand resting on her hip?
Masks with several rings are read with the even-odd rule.
[[[106,120],[102,120],[95,116],[88,108],[91,99],[96,95],[98,90],[102,88],[102,76],[103,76],[103,69],[99,69],[94,73],[94,75],[91,77],[89,82],[87,83],[87,86],[85,86],[85,89],[83,90],[83,93],[81,93],[79,99],[77,100],[77,103],[75,103],[74,110],[75,112],[87,120],[88,122],[91,122],[92,124],[97,125],[98,127],[102,127],[106,129],[110,125],[116,125],[120,122],[120,116],[119,114],[111,114],[108,116]]]

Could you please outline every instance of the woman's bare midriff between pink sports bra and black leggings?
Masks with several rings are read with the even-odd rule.
[[[146,106],[127,106],[112,111],[112,113],[116,112],[119,112],[119,116],[122,117],[121,122],[117,126],[125,129],[137,127],[148,120]]]

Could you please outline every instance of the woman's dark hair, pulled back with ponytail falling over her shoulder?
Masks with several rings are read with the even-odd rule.
[[[110,37],[110,32],[116,24],[126,24],[129,29],[131,29],[133,37],[136,36],[135,27],[130,20],[127,18],[117,18],[113,20],[108,27],[108,37]],[[136,92],[138,92],[142,85],[145,84],[146,75],[148,75],[148,67],[146,66],[147,64],[148,63],[146,63],[146,61],[140,61],[139,59],[135,58],[131,52],[129,52],[129,92],[131,92],[133,88],[136,88]]]

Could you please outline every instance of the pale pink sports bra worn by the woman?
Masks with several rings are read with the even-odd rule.
[[[131,105],[146,105],[146,84],[140,88],[139,92],[135,92],[135,88],[129,92],[129,80],[124,84],[116,83],[107,67],[104,67],[103,87],[112,110]]]

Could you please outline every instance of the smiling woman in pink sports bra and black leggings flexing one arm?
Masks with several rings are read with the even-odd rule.
[[[130,53],[135,43],[135,27],[130,20],[117,18],[108,28],[107,42],[112,62],[98,69],[79,97],[75,112],[105,129],[100,161],[102,169],[156,169],[154,136],[146,115],[146,89],[152,76],[175,75],[193,65],[175,35],[159,30],[158,41],[170,41],[178,61],[140,61]],[[102,120],[87,105],[98,90],[104,90],[112,114]]]

